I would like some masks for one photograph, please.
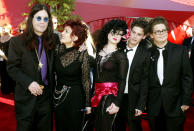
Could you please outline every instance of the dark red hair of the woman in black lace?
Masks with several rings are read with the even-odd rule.
[[[78,48],[87,39],[87,26],[81,22],[81,20],[68,20],[65,22],[63,27],[70,26],[72,29],[71,35],[75,35],[78,39],[74,42],[74,47]]]

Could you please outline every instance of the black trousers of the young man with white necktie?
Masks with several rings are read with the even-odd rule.
[[[185,116],[168,117],[161,109],[158,116],[149,116],[151,131],[183,131]]]

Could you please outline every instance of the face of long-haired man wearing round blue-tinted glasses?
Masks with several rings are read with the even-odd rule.
[[[38,11],[32,19],[34,33],[38,36],[41,36],[46,31],[48,27],[48,22],[48,13],[45,10]]]

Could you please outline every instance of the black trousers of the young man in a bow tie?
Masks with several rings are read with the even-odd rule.
[[[141,118],[130,116],[128,106],[128,95],[123,95],[121,106],[115,120],[115,131],[126,131],[127,122],[130,131],[142,131]]]

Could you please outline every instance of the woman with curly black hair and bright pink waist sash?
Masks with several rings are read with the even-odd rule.
[[[122,36],[128,28],[125,21],[111,20],[99,34],[95,60],[95,95],[91,99],[96,107],[95,131],[111,131],[124,93],[128,60],[122,48]]]

